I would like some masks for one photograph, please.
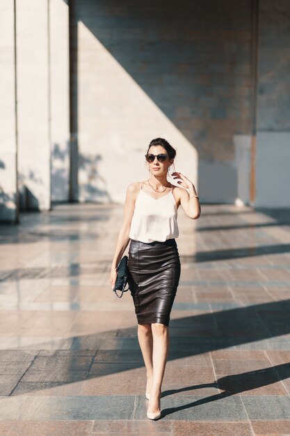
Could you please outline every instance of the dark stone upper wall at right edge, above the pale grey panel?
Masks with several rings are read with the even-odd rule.
[[[258,130],[290,131],[290,1],[263,0],[259,13]]]

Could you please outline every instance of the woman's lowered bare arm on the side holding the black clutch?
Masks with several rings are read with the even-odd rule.
[[[126,200],[124,203],[124,219],[120,232],[118,234],[117,244],[115,247],[115,254],[111,265],[110,283],[112,288],[115,286],[115,279],[117,277],[117,267],[120,262],[127,245],[129,244],[129,232],[131,227],[132,217],[134,215],[136,200],[136,183],[131,183],[127,188]]]

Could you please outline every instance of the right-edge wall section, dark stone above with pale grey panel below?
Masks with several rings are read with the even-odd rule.
[[[290,3],[261,1],[256,202],[290,207]]]

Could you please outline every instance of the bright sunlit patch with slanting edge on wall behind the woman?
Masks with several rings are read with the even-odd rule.
[[[83,22],[77,35],[79,201],[124,201],[129,183],[148,178],[144,155],[155,137],[176,148],[176,171],[196,186],[194,145]]]

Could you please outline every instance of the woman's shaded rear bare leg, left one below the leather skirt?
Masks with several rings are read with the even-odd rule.
[[[142,351],[146,371],[147,371],[147,385],[146,392],[150,394],[153,380],[153,336],[151,324],[138,324],[138,341]]]

